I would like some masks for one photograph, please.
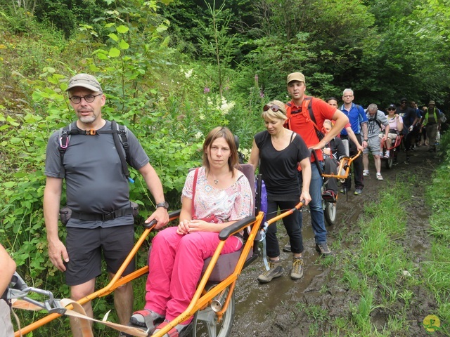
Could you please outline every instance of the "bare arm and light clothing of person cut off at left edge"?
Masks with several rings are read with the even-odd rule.
[[[6,296],[2,296],[8,289],[14,272],[15,262],[4,249],[4,246],[0,244],[0,336],[2,337],[14,336],[10,303],[8,303]]]

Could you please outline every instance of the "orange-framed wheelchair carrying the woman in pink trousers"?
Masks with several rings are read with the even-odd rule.
[[[250,164],[241,165],[241,171],[247,176],[250,181],[250,184],[255,181],[255,173],[254,168]],[[195,294],[191,300],[188,308],[181,313],[176,319],[169,322],[167,326],[162,328],[158,333],[154,333],[153,337],[161,337],[164,336],[165,333],[168,333],[174,326],[177,324],[184,322],[189,317],[193,317],[191,324],[181,331],[180,336],[205,336],[205,337],[226,337],[231,333],[231,327],[234,319],[234,310],[235,310],[235,298],[234,298],[234,288],[236,286],[236,280],[238,279],[240,272],[246,266],[250,265],[254,260],[256,260],[259,256],[258,253],[258,242],[262,240],[262,237],[265,235],[265,230],[268,225],[271,223],[275,223],[280,218],[284,216],[288,216],[292,214],[294,211],[300,209],[302,203],[300,202],[295,206],[295,208],[285,211],[284,213],[272,218],[266,223],[262,223],[264,219],[264,212],[259,211],[261,209],[261,194],[262,194],[262,180],[259,176],[256,179],[256,188],[255,188],[255,216],[248,216],[242,220],[233,223],[229,227],[224,228],[219,233],[219,238],[221,242],[217,246],[214,255],[205,260],[205,264],[203,267],[203,276],[200,278],[198,283],[198,288],[195,291]],[[176,220],[179,218],[180,211],[173,211],[169,213],[170,220]],[[24,298],[25,302],[32,302],[32,306],[34,306],[34,310],[46,310],[49,312],[49,315],[39,319],[37,322],[34,322],[28,326],[25,326],[20,331],[15,331],[15,336],[18,337],[20,334],[25,335],[30,331],[34,331],[39,328],[39,326],[43,326],[44,324],[50,322],[60,315],[75,315],[72,313],[72,309],[74,307],[78,307],[89,300],[94,300],[95,298],[107,296],[112,293],[115,289],[127,282],[131,282],[131,280],[136,279],[137,277],[141,277],[148,273],[148,265],[141,267],[140,269],[132,272],[131,274],[122,277],[122,273],[124,272],[127,265],[133,260],[137,251],[143,244],[143,242],[148,237],[148,234],[155,227],[155,224],[149,224],[146,230],[144,230],[141,237],[136,242],[134,248],[127,256],[127,259],[124,260],[124,263],[117,271],[117,274],[113,279],[111,279],[110,283],[105,286],[103,289],[95,291],[91,293],[91,295],[78,300],[77,303],[67,303],[63,300],[55,300],[53,299],[53,294],[48,291],[44,291],[44,295],[51,294],[51,298],[49,300],[44,301],[44,303],[37,303],[36,300],[30,300],[29,298]],[[245,243],[243,247],[234,253],[223,254],[221,255],[221,250],[225,244],[225,241],[231,235],[238,233],[242,230],[245,230],[246,237]],[[23,287],[25,288],[25,287]],[[39,289],[23,289],[26,293],[27,291],[36,291],[39,292]],[[18,300],[20,303],[16,305],[16,308],[25,308],[30,307],[31,305],[23,305],[24,300]],[[22,305],[22,306],[20,306]],[[15,305],[13,305],[15,306]],[[32,308],[27,308],[32,309]],[[86,318],[86,317],[84,317]],[[94,319],[91,319],[94,320]],[[86,319],[79,319],[79,321],[83,321],[86,323],[88,327],[86,327],[86,333],[84,336],[93,336],[91,332],[91,328],[87,323]],[[101,322],[94,320],[95,322],[106,324],[113,329],[118,331],[124,331],[131,336],[149,336],[148,333],[145,333],[141,329],[132,328],[129,326],[122,326],[120,324],[113,324],[110,322]],[[89,329],[88,329],[89,328]]]

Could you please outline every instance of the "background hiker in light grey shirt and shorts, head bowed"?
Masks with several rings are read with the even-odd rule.
[[[389,133],[389,122],[387,121],[386,115],[383,111],[378,110],[376,104],[371,104],[367,107],[367,132],[368,132],[368,142],[367,147],[363,152],[363,164],[364,171],[363,176],[367,177],[368,173],[368,152],[372,152],[373,161],[375,162],[376,178],[378,181],[383,181],[383,176],[381,176],[381,160],[380,156],[383,156],[380,147],[380,139],[378,135],[381,132],[382,126],[385,126],[385,131],[382,137],[383,141],[386,141],[387,134]]]

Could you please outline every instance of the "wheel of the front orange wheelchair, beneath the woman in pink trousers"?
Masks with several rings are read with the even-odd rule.
[[[228,296],[229,288],[223,294],[219,294],[215,299],[224,303]],[[233,326],[234,308],[236,302],[234,292],[231,294],[230,303],[226,312],[222,316],[221,322],[217,322],[217,315],[210,306],[195,313],[193,323],[193,337],[227,337],[231,333]]]

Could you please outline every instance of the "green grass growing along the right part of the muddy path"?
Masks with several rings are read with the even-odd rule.
[[[432,210],[428,226],[432,246],[423,252],[420,263],[402,245],[409,239],[407,209],[413,207],[409,204],[410,182],[420,177],[399,179],[380,192],[378,202],[365,207],[364,217],[357,224],[359,237],[347,237],[349,242],[357,239],[360,246],[345,251],[341,258],[340,280],[359,298],[350,301],[348,317],[333,321],[333,333],[327,336],[411,336],[411,322],[420,319],[411,317],[411,310],[421,303],[418,297],[423,293],[437,303],[436,312],[428,314],[441,320],[439,332],[450,335],[449,169],[447,153],[444,164],[433,173],[424,198]],[[373,322],[376,310],[387,313],[385,326],[378,329]]]

